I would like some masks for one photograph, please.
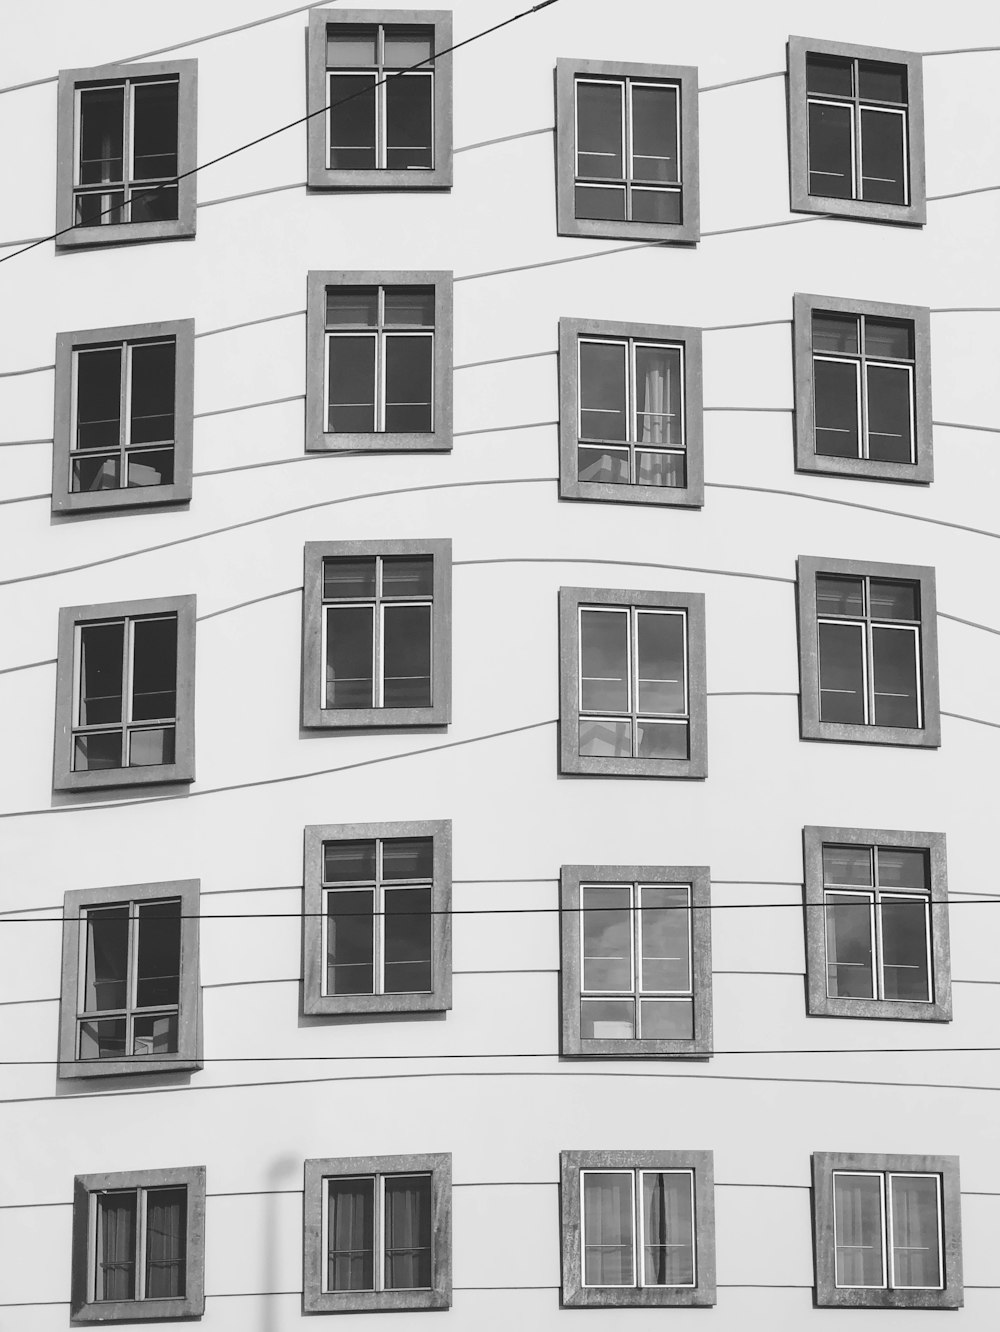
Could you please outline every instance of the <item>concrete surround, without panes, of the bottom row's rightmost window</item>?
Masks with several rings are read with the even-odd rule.
[[[940,1289],[913,1287],[838,1287],[834,1229],[835,1172],[936,1175],[940,1179]],[[881,1152],[812,1154],[812,1233],[816,1255],[815,1303],[847,1309],[959,1309],[961,1276],[961,1185],[957,1156],[895,1156]]]

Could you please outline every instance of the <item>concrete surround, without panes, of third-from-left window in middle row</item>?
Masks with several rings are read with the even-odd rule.
[[[579,753],[579,611],[587,607],[674,610],[686,615],[687,758],[638,758]],[[559,771],[586,777],[708,775],[708,702],[706,695],[704,594],[638,591],[627,587],[559,589]]]

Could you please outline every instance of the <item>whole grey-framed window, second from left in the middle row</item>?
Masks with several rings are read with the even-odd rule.
[[[302,726],[451,719],[451,542],[310,541]]]

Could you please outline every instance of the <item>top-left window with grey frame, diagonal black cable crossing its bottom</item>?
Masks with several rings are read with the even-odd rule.
[[[56,245],[194,234],[197,60],[59,76]],[[178,177],[184,177],[182,180]]]

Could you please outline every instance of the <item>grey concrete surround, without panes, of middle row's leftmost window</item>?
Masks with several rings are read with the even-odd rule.
[[[177,617],[177,702],[173,763],[148,767],[73,770],[73,719],[77,691],[77,627],[88,621]],[[64,606],[59,613],[56,657],[56,743],[52,787],[84,791],[113,786],[156,786],[194,781],[194,627],[197,598],[152,597],[148,601],[111,601],[95,606]]]

